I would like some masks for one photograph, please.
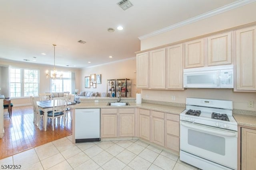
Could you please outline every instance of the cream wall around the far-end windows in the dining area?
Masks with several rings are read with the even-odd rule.
[[[13,61],[6,61],[0,60],[1,65],[9,65],[13,67],[20,67],[20,68],[32,68],[38,69],[40,73],[40,80],[39,80],[39,93],[50,92],[50,79],[46,79],[45,72],[46,70],[53,70],[53,66],[41,65],[41,64],[32,64],[32,63],[25,63],[25,62],[13,62]],[[80,70],[79,69],[72,69],[72,68],[62,68],[56,67],[58,71],[72,71],[76,73],[76,88],[80,88]],[[2,80],[1,80],[2,81]],[[13,98],[12,103],[14,106],[22,106],[30,104],[30,98]]]

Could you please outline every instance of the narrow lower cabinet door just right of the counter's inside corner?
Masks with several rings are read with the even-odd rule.
[[[140,115],[140,137],[150,141],[150,116]]]

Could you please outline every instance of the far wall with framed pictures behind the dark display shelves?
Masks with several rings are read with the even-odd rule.
[[[84,88],[84,77],[90,74],[101,74],[101,84],[96,84],[96,88]],[[131,97],[136,97],[136,93],[140,92],[136,86],[136,58],[130,58],[118,62],[107,63],[99,66],[84,68],[81,71],[80,91],[90,92],[107,92],[108,79],[130,78],[131,80]]]

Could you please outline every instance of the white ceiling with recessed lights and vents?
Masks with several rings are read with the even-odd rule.
[[[4,0],[0,59],[53,65],[52,44],[57,66],[85,68],[127,59],[140,51],[138,37],[237,0],[130,1],[133,6],[122,10],[118,0]]]

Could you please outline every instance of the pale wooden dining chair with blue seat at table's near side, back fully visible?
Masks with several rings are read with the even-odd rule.
[[[55,119],[58,117],[63,117],[62,121],[64,127],[66,127],[66,107],[68,104],[68,96],[60,97],[60,98],[53,98],[53,108],[52,113],[48,113],[48,118],[52,119],[52,131],[54,131],[54,122]],[[57,121],[58,124],[60,123]]]

